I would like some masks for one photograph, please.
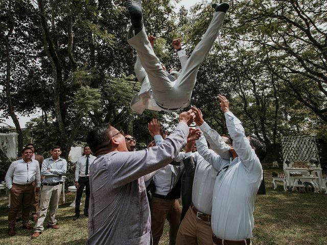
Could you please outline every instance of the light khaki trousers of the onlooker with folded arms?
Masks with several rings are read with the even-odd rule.
[[[34,227],[35,231],[41,232],[44,230],[43,222],[49,207],[50,210],[49,210],[48,224],[50,226],[53,226],[57,223],[56,213],[58,209],[61,189],[62,189],[62,184],[55,185],[55,186],[43,185],[41,190],[39,216]]]

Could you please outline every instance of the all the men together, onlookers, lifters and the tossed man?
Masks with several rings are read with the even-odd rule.
[[[154,38],[145,32],[141,0],[127,0],[126,5],[132,24],[128,43],[136,50],[135,74],[142,82],[131,108],[141,114],[145,109],[174,112],[188,107],[199,66],[218,36],[229,5],[212,5],[213,19],[189,59],[181,40],[173,41],[182,69],[170,73],[153,52]],[[229,111],[225,96],[218,95],[218,100],[230,138],[209,127],[195,106],[179,115],[179,124],[169,136],[162,133],[158,120],[149,122],[154,141],[146,150],[135,151],[135,138],[109,124],[89,132],[89,147],[84,148],[85,156],[76,167],[74,216],[74,220],[80,216],[85,187],[87,244],[157,245],[166,219],[171,245],[251,244],[255,195],[263,179],[260,160],[266,154],[266,146],[254,136],[245,136],[241,121]],[[196,128],[189,127],[192,122]],[[181,151],[184,146],[185,152]],[[25,192],[37,193],[39,175],[43,176],[40,211],[32,235],[36,238],[44,229],[49,206],[48,225],[59,228],[55,215],[66,161],[60,158],[60,147],[55,146],[52,157],[43,161],[40,170],[32,154],[30,148],[22,151],[22,159],[10,166],[6,181],[11,181],[8,187],[12,195],[17,193],[17,203],[22,203],[23,228],[32,229],[28,224],[31,200]],[[12,173],[16,165],[19,174],[15,178]],[[9,235],[15,233],[18,209],[14,204],[9,213]]]

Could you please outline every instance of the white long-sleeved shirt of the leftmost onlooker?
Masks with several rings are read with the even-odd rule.
[[[12,184],[25,185],[36,180],[37,187],[41,186],[40,167],[36,160],[25,162],[24,159],[19,159],[10,164],[6,177],[8,189],[11,189]]]

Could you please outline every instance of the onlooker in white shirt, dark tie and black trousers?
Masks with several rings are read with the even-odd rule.
[[[75,216],[73,220],[80,217],[80,205],[84,187],[86,191],[84,216],[88,217],[88,203],[90,199],[89,167],[92,162],[97,159],[95,156],[91,155],[91,149],[88,145],[84,146],[83,153],[84,156],[77,160],[75,169],[75,187],[77,188],[77,192],[75,201]]]

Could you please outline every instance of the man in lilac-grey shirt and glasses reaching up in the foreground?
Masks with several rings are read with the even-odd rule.
[[[186,144],[194,113],[179,115],[174,133],[158,146],[128,152],[123,131],[92,129],[87,143],[97,159],[90,166],[86,244],[152,244],[151,218],[143,176],[170,163]],[[193,131],[190,137],[198,137]]]

